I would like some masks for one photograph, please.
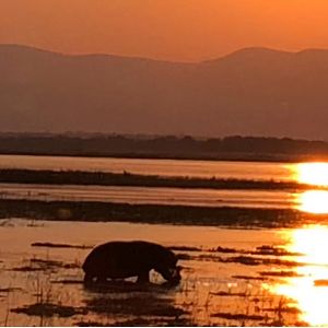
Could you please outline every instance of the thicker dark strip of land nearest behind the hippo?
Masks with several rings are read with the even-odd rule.
[[[309,214],[297,210],[1,199],[0,219],[5,218],[247,229],[294,227],[317,223],[318,220],[328,222],[327,214]]]

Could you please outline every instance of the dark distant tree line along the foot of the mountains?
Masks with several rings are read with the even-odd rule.
[[[279,160],[301,155],[328,156],[328,142],[242,136],[194,138],[190,136],[0,133],[0,153]]]

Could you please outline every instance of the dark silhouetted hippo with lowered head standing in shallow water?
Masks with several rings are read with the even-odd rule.
[[[175,254],[162,245],[132,241],[109,242],[96,246],[86,257],[82,268],[84,282],[91,283],[138,277],[137,282],[149,282],[154,269],[169,283],[178,284],[180,268]]]

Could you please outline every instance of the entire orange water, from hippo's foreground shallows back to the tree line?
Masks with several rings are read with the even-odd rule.
[[[323,188],[327,185],[323,178],[326,176],[325,163],[0,156],[0,167],[118,173],[127,171],[165,176],[295,180],[324,185]],[[311,189],[308,186],[308,190],[302,192],[286,192],[0,184],[0,197],[297,208],[312,213],[328,213],[327,190]],[[328,227],[325,225],[325,218],[318,216],[317,225],[289,230],[43,222],[14,218],[0,220],[0,324],[108,326],[143,318],[143,326],[176,326],[177,323],[173,321],[176,315],[154,316],[151,312],[154,304],[161,301],[160,308],[155,308],[156,313],[159,309],[160,313],[168,309],[183,311],[180,318],[186,320],[186,325],[328,326]],[[109,290],[87,290],[83,286],[81,265],[90,251],[89,248],[32,247],[35,242],[94,246],[115,239],[147,239],[165,246],[198,247],[198,250],[176,250],[180,257],[179,265],[183,266],[179,286],[171,290],[157,286],[163,279],[152,272],[152,282],[156,286],[131,292],[131,285],[122,290],[117,286],[113,290],[113,285]],[[215,250],[218,247],[219,250]],[[103,302],[102,306],[99,301]],[[66,317],[47,317],[42,314],[24,315],[12,312],[35,303],[70,306],[73,313]],[[115,304],[118,307],[114,308]],[[127,307],[131,304],[132,307]],[[128,308],[128,312],[122,308]],[[129,323],[128,326],[136,325],[136,321]]]

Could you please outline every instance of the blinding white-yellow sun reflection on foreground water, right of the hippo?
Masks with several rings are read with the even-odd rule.
[[[288,250],[302,254],[296,276],[270,289],[296,302],[300,319],[309,325],[328,325],[328,227],[312,226],[294,230],[285,236]],[[295,260],[295,259],[294,259]],[[320,286],[316,281],[323,282]],[[326,284],[327,282],[327,284]]]

